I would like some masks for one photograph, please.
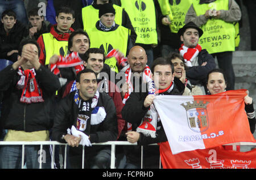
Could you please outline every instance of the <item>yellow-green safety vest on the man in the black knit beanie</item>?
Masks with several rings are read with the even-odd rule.
[[[119,25],[115,31],[100,31],[96,27],[88,29],[90,38],[90,48],[100,48],[105,51],[105,55],[112,49],[118,49],[124,55],[127,52],[128,36],[130,30]],[[118,73],[117,60],[115,58],[106,59],[105,63]]]

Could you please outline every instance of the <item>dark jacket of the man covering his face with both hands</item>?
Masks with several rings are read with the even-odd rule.
[[[0,122],[3,123],[3,128],[33,132],[49,130],[52,127],[52,100],[60,88],[59,78],[44,66],[40,66],[35,72],[44,102],[26,104],[20,102],[22,89],[16,88],[20,79],[17,70],[10,65],[0,71],[0,91],[3,93]]]

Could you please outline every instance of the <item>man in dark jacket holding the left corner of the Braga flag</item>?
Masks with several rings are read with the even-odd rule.
[[[174,67],[170,61],[164,58],[157,58],[152,65],[152,80],[155,83],[155,94],[158,95],[182,95],[184,91],[184,84],[174,77]],[[133,125],[132,130],[127,132],[127,140],[130,143],[138,142],[141,144],[151,144],[156,141],[166,138],[162,123],[160,122],[153,104],[155,95],[147,92],[132,92],[127,99],[125,106],[122,109],[122,117]],[[171,103],[171,102],[170,102]],[[150,135],[143,134],[141,131],[142,119],[146,120],[150,117],[151,122],[156,122],[156,138],[151,138]],[[155,118],[154,118],[155,117]],[[139,131],[140,130],[140,131]],[[137,132],[138,131],[138,132]],[[145,132],[145,131],[144,131]],[[131,153],[127,152],[127,159],[129,164],[133,164],[133,168],[139,168],[141,164],[140,149],[132,149],[127,147]],[[158,168],[159,167],[159,148],[143,147],[143,168]],[[134,166],[135,165],[135,166]]]

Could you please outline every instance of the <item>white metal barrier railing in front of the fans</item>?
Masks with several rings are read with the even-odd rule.
[[[42,169],[42,151],[43,151],[43,145],[52,145],[52,161],[51,161],[51,168],[54,169],[55,164],[55,145],[65,145],[65,153],[64,153],[64,169],[67,168],[67,143],[59,143],[55,141],[44,141],[44,142],[5,142],[0,141],[0,145],[22,145],[22,169],[24,168],[24,147],[25,145],[40,145],[40,162],[39,162],[39,169]],[[112,142],[105,142],[105,143],[93,143],[92,145],[111,145],[111,161],[110,161],[110,168],[115,168],[115,146],[116,145],[137,145],[137,143],[129,143],[129,142],[119,142],[119,141],[112,141]],[[158,145],[158,144],[149,144],[149,145]],[[231,143],[231,144],[225,144],[225,145],[232,145],[233,150],[236,151],[237,145],[255,145],[256,143],[251,142],[240,142],[240,143]],[[143,168],[143,146],[141,151],[141,168]],[[82,147],[82,169],[84,169],[84,147]],[[160,165],[159,165],[160,168]]]

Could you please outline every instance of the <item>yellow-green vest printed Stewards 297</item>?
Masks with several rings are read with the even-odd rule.
[[[209,4],[199,5],[199,0],[193,2],[196,15],[205,14],[209,9],[228,10],[229,1],[217,0]],[[203,49],[212,53],[221,53],[235,50],[235,28],[233,23],[221,19],[208,19],[207,23],[200,27],[204,33],[199,39]]]

